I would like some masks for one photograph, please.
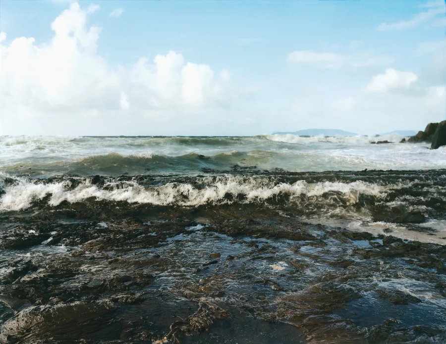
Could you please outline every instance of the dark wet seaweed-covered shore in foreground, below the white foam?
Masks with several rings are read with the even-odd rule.
[[[195,207],[94,197],[52,206],[49,196],[3,212],[0,343],[445,343],[445,246],[397,238],[395,227],[443,235],[422,225],[443,216],[444,173],[272,176],[406,179],[387,192],[392,206],[334,191],[317,208],[370,211],[384,234],[307,223],[298,214],[315,197],[283,194]],[[103,177],[90,182],[110,188]]]

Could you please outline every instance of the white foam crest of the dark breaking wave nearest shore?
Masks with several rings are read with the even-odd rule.
[[[16,178],[14,185],[4,187],[4,194],[0,197],[0,211],[17,211],[31,206],[35,200],[41,200],[50,195],[48,204],[56,206],[63,201],[80,202],[89,197],[97,200],[127,201],[128,203],[149,203],[154,205],[182,205],[197,206],[202,204],[229,203],[225,196],[243,196],[242,202],[258,202],[278,196],[288,195],[293,198],[305,195],[307,197],[321,197],[329,192],[342,194],[346,204],[354,204],[361,194],[375,197],[385,197],[388,187],[363,181],[352,183],[320,182],[307,183],[297,181],[293,184],[275,184],[270,179],[227,176],[212,179],[202,178],[204,188],[196,188],[191,184],[167,183],[159,187],[146,188],[137,183],[129,182],[116,188],[115,183],[109,183],[106,188],[98,188],[89,183],[82,183],[73,190],[69,190],[70,182],[33,183],[26,179]],[[324,200],[330,202],[330,197]],[[337,200],[334,200],[337,202]]]

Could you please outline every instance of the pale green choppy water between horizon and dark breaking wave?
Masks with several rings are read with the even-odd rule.
[[[0,171],[119,175],[222,172],[230,166],[329,171],[446,168],[446,149],[386,137],[1,137]],[[388,140],[395,144],[371,145]]]

